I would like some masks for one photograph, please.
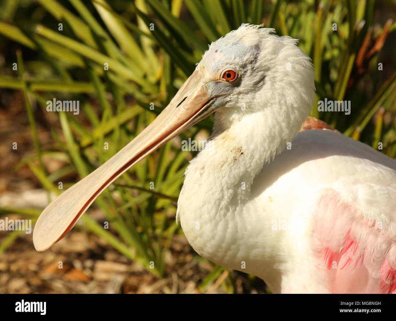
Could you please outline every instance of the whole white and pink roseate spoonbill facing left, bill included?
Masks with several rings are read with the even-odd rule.
[[[297,40],[272,32],[244,24],[213,42],[141,134],[47,206],[36,249],[63,238],[129,167],[216,111],[211,150],[188,165],[178,201],[194,250],[276,293],[395,293],[396,161],[340,133],[299,132],[315,97],[312,63]]]

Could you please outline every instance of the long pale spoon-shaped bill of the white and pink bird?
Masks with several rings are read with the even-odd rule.
[[[99,194],[122,173],[212,113],[211,102],[208,86],[202,82],[201,73],[196,69],[147,128],[44,209],[33,231],[36,250],[45,251],[63,238]]]

